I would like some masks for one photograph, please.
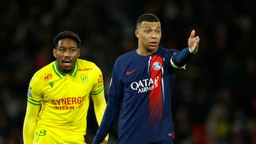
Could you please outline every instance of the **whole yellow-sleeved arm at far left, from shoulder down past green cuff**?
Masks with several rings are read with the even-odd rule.
[[[40,90],[40,80],[32,77],[28,87],[28,101],[26,116],[23,122],[23,143],[33,143],[34,129],[36,128],[37,116],[41,109],[42,94]]]

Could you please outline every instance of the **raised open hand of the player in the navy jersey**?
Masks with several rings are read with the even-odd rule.
[[[200,38],[199,36],[195,37],[195,35],[196,35],[196,31],[192,30],[191,35],[188,38],[188,47],[190,48],[192,53],[197,52],[199,47]]]

